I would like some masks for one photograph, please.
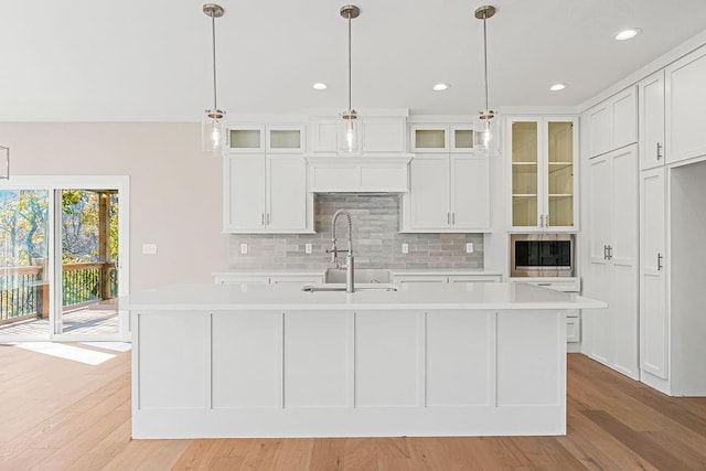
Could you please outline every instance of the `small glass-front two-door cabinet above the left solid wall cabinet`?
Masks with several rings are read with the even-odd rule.
[[[298,125],[236,125],[228,128],[233,153],[303,153],[304,128]]]

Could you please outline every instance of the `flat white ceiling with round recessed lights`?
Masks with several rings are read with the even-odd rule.
[[[217,0],[218,106],[346,106],[345,0]],[[490,104],[579,105],[706,30],[704,0],[492,0]],[[1,121],[197,121],[212,106],[211,20],[195,0],[2,0]],[[353,107],[473,114],[482,0],[355,0]],[[676,8],[678,7],[678,8]],[[616,42],[616,32],[643,33]],[[314,82],[329,89],[315,92]],[[437,82],[451,88],[431,90]],[[568,85],[560,93],[548,87]]]

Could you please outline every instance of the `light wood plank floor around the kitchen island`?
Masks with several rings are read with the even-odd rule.
[[[130,440],[129,353],[88,366],[0,345],[0,470],[706,470],[706,399],[568,365],[565,437]]]

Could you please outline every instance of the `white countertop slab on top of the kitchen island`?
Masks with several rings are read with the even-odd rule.
[[[601,309],[602,301],[525,283],[458,283],[411,291],[303,292],[258,283],[175,285],[120,298],[132,311]]]

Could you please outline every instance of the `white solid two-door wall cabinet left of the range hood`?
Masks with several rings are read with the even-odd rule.
[[[311,233],[312,195],[299,154],[224,158],[224,232]]]

